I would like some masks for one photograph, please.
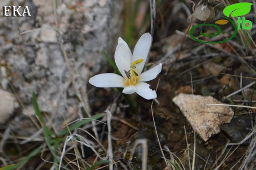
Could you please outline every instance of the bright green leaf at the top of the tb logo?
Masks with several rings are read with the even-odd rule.
[[[251,11],[251,5],[253,3],[249,2],[240,2],[240,3],[234,3],[232,5],[228,5],[224,8],[223,13],[225,16],[229,17],[230,13],[231,17],[239,17],[242,15],[246,15]]]

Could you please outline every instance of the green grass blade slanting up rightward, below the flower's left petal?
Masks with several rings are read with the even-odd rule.
[[[75,122],[74,124],[64,128],[62,131],[60,131],[57,136],[63,136],[65,134],[69,134],[69,131],[72,131],[72,130],[76,129],[76,128],[82,126],[83,124],[85,124],[87,122],[99,119],[104,115],[105,115],[104,113],[101,113],[101,114],[94,115],[91,118],[85,118],[82,121]]]

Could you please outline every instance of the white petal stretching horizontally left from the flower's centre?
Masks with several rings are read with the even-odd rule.
[[[90,78],[89,83],[96,87],[125,87],[124,78],[114,73],[97,74]]]

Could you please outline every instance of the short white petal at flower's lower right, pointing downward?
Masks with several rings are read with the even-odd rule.
[[[136,89],[137,89],[137,94],[139,95],[139,96],[141,96],[141,97],[144,97],[144,98],[146,98],[146,99],[148,99],[148,100],[150,100],[150,99],[153,99],[153,98],[157,98],[157,93],[156,93],[156,91],[155,90],[151,90],[150,88],[149,88],[149,84],[147,84],[147,83],[143,83],[143,82],[141,82],[141,83],[138,83],[135,87],[136,87]]]

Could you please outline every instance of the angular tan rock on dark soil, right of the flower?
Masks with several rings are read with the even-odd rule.
[[[211,96],[203,97],[181,93],[172,101],[180,108],[193,129],[204,141],[219,133],[220,125],[230,122],[234,115],[227,106],[202,105],[202,103],[224,104]]]

